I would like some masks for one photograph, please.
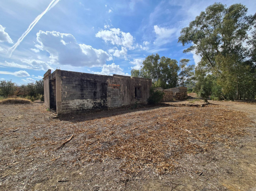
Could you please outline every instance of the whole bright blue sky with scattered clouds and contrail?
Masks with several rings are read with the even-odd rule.
[[[158,53],[184,54],[180,31],[212,0],[2,0],[0,1],[0,80],[26,84],[56,68],[102,75],[130,75],[143,59]],[[254,14],[256,1],[241,3]]]

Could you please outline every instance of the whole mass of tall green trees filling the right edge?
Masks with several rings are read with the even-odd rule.
[[[195,69],[195,92],[207,92],[204,78],[210,73],[214,76],[213,99],[255,98],[256,14],[246,14],[244,5],[226,7],[215,3],[182,29],[178,42],[192,43],[184,53],[196,51],[202,57]],[[250,37],[249,30],[252,30]],[[250,49],[246,51],[242,43],[248,38]]]

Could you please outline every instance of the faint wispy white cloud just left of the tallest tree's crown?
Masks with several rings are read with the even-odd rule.
[[[156,40],[154,41],[154,44],[156,45],[163,45],[171,40],[173,40],[173,37],[176,37],[174,35],[176,33],[177,29],[168,29],[165,27],[159,27],[158,25],[154,25],[154,31],[156,33]]]

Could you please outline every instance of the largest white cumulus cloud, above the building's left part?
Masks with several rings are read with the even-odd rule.
[[[78,44],[71,34],[39,31],[37,42],[40,45],[37,44],[35,47],[47,51],[54,64],[95,67],[112,60],[106,51]]]

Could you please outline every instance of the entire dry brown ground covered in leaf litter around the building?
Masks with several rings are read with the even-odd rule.
[[[0,190],[256,191],[256,105],[187,102],[67,116],[0,105]]]

